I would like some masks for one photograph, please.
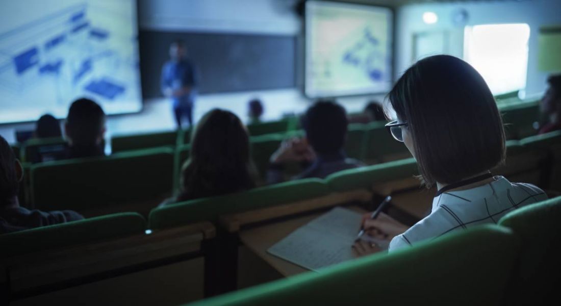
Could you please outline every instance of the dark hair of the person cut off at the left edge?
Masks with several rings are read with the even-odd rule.
[[[17,195],[20,188],[16,172],[16,156],[8,141],[0,136],[0,207]]]

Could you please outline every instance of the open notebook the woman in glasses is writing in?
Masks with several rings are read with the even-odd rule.
[[[351,246],[360,231],[361,219],[360,213],[335,207],[293,231],[267,252],[314,271],[348,261],[355,258]],[[370,240],[388,248],[388,241]]]

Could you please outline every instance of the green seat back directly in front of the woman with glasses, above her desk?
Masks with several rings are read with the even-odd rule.
[[[354,168],[333,173],[325,178],[329,188],[334,191],[368,189],[378,182],[407,179],[417,175],[415,158],[379,163],[378,165]]]

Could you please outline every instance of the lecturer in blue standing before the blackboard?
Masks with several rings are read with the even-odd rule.
[[[197,95],[198,75],[196,68],[187,59],[185,42],[176,40],[169,46],[171,60],[162,67],[160,86],[165,97],[171,98],[177,127],[187,118],[189,126],[193,125],[193,106]]]

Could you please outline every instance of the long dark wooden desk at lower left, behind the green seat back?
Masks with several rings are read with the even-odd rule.
[[[6,277],[0,277],[0,282],[9,282],[13,300],[33,296],[40,299],[43,294],[58,290],[99,285],[104,281],[109,284],[118,277],[138,275],[143,271],[155,273],[156,268],[202,258],[203,241],[214,236],[215,227],[210,222],[199,222],[154,231],[151,235],[140,234],[1,258],[0,268]],[[203,289],[200,277],[198,281]]]

